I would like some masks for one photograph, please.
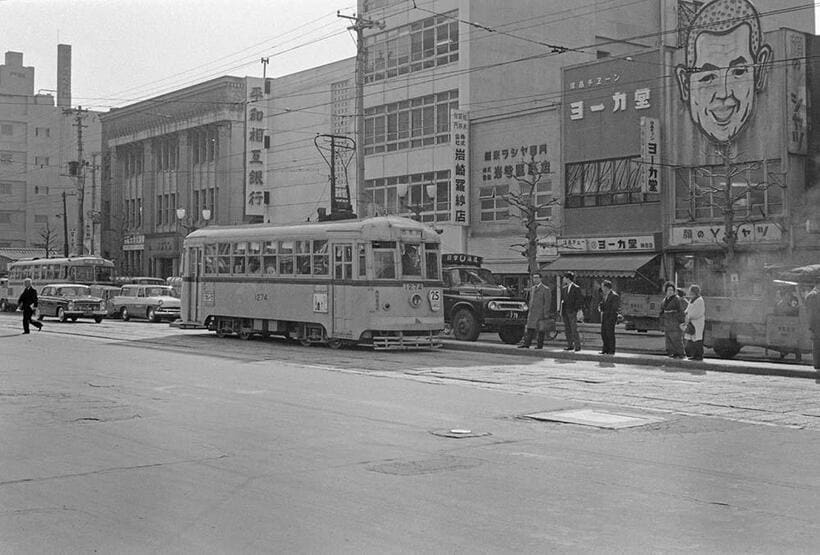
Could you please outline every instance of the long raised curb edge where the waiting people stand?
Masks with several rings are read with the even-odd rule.
[[[472,351],[500,355],[518,356],[522,358],[552,358],[560,360],[583,360],[589,362],[610,362],[632,364],[636,366],[651,366],[658,369],[675,369],[683,371],[699,370],[703,373],[728,372],[733,374],[750,374],[756,376],[778,376],[783,378],[802,378],[820,381],[820,370],[808,368],[794,368],[791,365],[776,363],[761,363],[748,361],[728,361],[722,359],[686,360],[671,359],[662,355],[648,353],[617,353],[615,355],[599,355],[592,351],[564,351],[544,349],[518,349],[514,345],[493,345],[487,343],[468,343],[455,340],[444,340],[443,349],[450,351]]]

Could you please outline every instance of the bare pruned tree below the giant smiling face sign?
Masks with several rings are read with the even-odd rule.
[[[718,156],[722,165],[717,167],[699,167],[695,171],[703,179],[695,180],[692,193],[695,205],[708,206],[713,212],[720,214],[723,227],[723,237],[717,241],[724,252],[723,267],[726,270],[734,268],[735,255],[739,234],[744,225],[755,221],[755,217],[766,217],[762,211],[754,214],[754,204],[750,197],[755,193],[763,193],[769,188],[784,187],[784,179],[778,179],[770,174],[768,180],[752,181],[750,175],[762,175],[763,162],[739,162],[738,155],[732,153],[731,145],[719,145]],[[783,192],[785,194],[785,191]]]

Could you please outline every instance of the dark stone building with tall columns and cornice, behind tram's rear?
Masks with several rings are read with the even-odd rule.
[[[102,254],[120,273],[176,275],[187,232],[251,220],[247,95],[245,79],[220,77],[101,117]]]

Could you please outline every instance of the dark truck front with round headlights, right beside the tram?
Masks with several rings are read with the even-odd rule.
[[[481,263],[480,256],[442,255],[444,322],[461,341],[495,332],[504,343],[518,343],[527,324],[527,302],[514,297]]]

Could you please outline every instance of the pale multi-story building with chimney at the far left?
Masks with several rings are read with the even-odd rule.
[[[63,55],[68,47],[60,48],[58,71],[70,75],[70,54]],[[48,242],[59,252],[65,247],[70,254],[78,253],[78,192],[84,185],[82,250],[93,252],[99,248],[99,229],[93,225],[99,118],[70,109],[70,81],[58,93],[56,104],[52,94],[35,94],[34,75],[33,67],[23,65],[22,53],[6,52],[0,65],[0,246]],[[69,162],[78,156],[78,120],[83,125],[86,164],[77,166],[72,176]]]

